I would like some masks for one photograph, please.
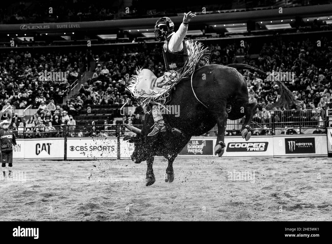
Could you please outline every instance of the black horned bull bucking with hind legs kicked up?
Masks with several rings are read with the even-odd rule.
[[[192,85],[191,77],[189,77],[182,80],[175,87],[175,90],[171,93],[171,100],[167,105],[179,106],[180,116],[175,117],[175,115],[170,114],[164,114],[163,116],[171,128],[175,127],[181,130],[182,134],[167,130],[166,132],[159,132],[155,136],[147,136],[154,124],[151,113],[146,115],[141,131],[125,124],[128,129],[137,133],[135,137],[127,136],[124,138],[124,140],[129,139],[129,142],[134,142],[135,149],[131,159],[135,163],[141,163],[144,160],[147,162],[146,186],[150,186],[155,182],[152,168],[154,156],[163,156],[168,160],[165,181],[173,182],[173,161],[176,156],[192,136],[206,133],[215,124],[217,124],[218,133],[214,153],[218,154],[219,157],[224,152],[227,119],[237,120],[245,116],[241,134],[242,138],[249,140],[251,136],[250,122],[255,114],[257,103],[249,103],[247,83],[235,68],[248,69],[252,72],[267,75],[259,69],[244,64],[230,64],[227,66],[211,64],[194,72]],[[295,100],[290,90],[280,81],[276,81],[276,83],[279,85],[281,97],[270,108],[283,107],[286,103],[294,103]]]

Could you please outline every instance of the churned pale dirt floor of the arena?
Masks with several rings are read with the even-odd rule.
[[[26,172],[26,182],[0,181],[0,221],[332,220],[331,158],[177,158],[173,183],[164,181],[166,160],[156,159],[150,187],[146,162],[13,166]],[[233,181],[234,171],[255,177]]]

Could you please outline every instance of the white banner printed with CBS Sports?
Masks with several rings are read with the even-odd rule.
[[[118,157],[117,137],[67,138],[67,159]]]

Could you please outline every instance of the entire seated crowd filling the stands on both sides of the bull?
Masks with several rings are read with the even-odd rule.
[[[283,114],[272,114],[271,111],[266,110],[266,106],[279,99],[279,86],[257,73],[249,71],[243,73],[248,85],[249,102],[259,104],[253,118],[254,122],[262,124],[260,131],[265,131],[259,133],[270,133],[270,130],[268,128],[265,130],[264,127],[272,121],[289,122],[286,120],[288,117],[290,120],[300,118],[298,121],[312,122],[308,125],[316,126],[325,119],[324,109],[331,101],[332,94],[332,41],[326,37],[321,37],[319,40],[322,44],[318,47],[316,40],[292,42],[276,37],[272,43],[263,44],[259,57],[255,59],[250,59],[247,55],[250,43],[245,43],[245,47],[235,43],[209,44],[211,50],[209,64],[233,63],[236,54],[243,54],[245,64],[265,72],[274,70],[275,72],[291,72],[294,75],[293,79],[286,81],[285,84],[298,100],[298,104],[283,110],[298,112],[287,114],[284,111]],[[125,87],[131,82],[131,75],[134,74],[137,66],[150,69],[157,77],[162,76],[166,71],[161,44],[139,43],[138,45],[111,46],[105,51],[103,57],[98,59],[92,78],[79,87],[75,97],[64,102],[70,84],[80,75],[79,60],[84,55],[82,52],[75,51],[41,53],[31,50],[2,53],[0,62],[1,120],[4,118],[11,120],[11,126],[17,128],[18,135],[24,127],[32,137],[62,136],[61,126],[67,121],[66,123],[74,128],[75,117],[89,105],[122,105],[127,102],[128,106],[137,106],[137,102],[125,93]],[[202,61],[198,64],[198,68],[203,65],[206,63]],[[44,70],[65,72],[68,81],[65,83],[61,80],[49,81],[39,74]],[[37,113],[29,119],[29,122],[18,121],[15,114],[13,115],[13,110],[24,109],[29,105],[38,109]],[[129,114],[131,118],[127,117],[126,120],[132,124],[142,123],[143,114],[143,110],[140,109]],[[58,131],[54,131],[53,128]],[[53,132],[41,133],[45,130]],[[82,133],[76,133],[74,136],[87,134],[84,131],[80,132]],[[239,132],[230,133],[238,134]]]

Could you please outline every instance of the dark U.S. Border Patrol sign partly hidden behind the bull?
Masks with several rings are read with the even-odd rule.
[[[213,140],[190,140],[179,155],[213,155]]]

